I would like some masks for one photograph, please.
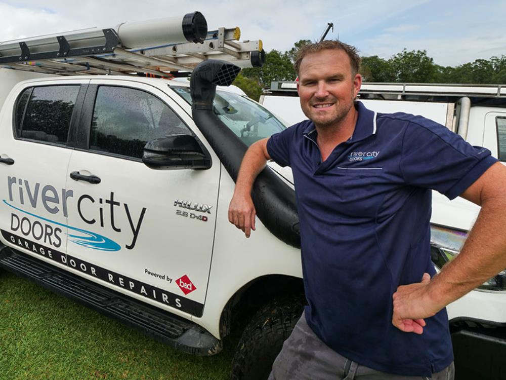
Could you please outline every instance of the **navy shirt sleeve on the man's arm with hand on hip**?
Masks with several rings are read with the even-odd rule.
[[[454,199],[496,162],[490,150],[472,146],[441,124],[414,116],[408,121],[400,162],[407,184]]]

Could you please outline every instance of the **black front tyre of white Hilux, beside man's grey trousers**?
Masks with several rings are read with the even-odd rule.
[[[301,318],[304,296],[275,299],[244,329],[232,362],[232,380],[267,380],[272,363]]]

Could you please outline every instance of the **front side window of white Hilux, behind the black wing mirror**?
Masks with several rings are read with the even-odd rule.
[[[132,88],[99,87],[90,149],[142,158],[146,142],[174,134],[192,133],[160,99]]]

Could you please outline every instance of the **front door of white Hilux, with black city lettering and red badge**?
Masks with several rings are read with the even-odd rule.
[[[168,89],[168,87],[167,87]],[[194,136],[193,121],[155,87],[92,80],[67,171],[76,212],[73,270],[176,314],[201,316],[213,250],[219,161],[207,170],[150,169],[147,141]]]

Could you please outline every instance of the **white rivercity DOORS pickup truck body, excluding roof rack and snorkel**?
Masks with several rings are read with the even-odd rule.
[[[219,89],[215,109],[239,147],[286,127],[239,89]],[[228,222],[234,181],[192,119],[188,81],[23,81],[0,141],[0,267],[197,355],[264,308],[233,378],[267,376],[302,310],[300,252]]]

